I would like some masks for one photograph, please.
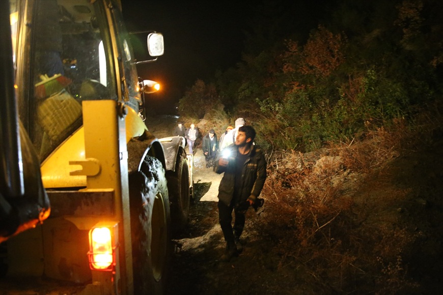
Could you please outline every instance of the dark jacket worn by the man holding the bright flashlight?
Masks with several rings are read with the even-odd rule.
[[[222,156],[219,155],[215,160],[215,172],[219,174],[225,172],[225,175],[223,175],[223,178],[220,181],[220,186],[218,187],[218,199],[229,206],[234,195],[234,158],[237,156],[238,148],[235,144],[231,144],[225,147],[225,150],[229,150],[232,161],[230,161],[226,167],[218,166],[218,159]],[[225,150],[224,154],[226,153]],[[266,159],[257,145],[251,147],[249,158],[245,161],[243,166],[242,178],[243,181],[239,202],[246,201],[250,195],[258,197],[266,180]]]

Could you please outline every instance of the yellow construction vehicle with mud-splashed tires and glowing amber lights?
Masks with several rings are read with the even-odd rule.
[[[0,293],[163,293],[192,157],[143,122],[162,35],[137,61],[120,0],[0,3]]]

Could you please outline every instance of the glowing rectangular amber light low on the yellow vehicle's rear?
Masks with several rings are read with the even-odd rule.
[[[110,271],[114,264],[112,232],[107,227],[95,227],[89,231],[88,252],[92,270]]]

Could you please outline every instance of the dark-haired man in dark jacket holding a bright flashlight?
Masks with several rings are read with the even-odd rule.
[[[224,261],[242,250],[240,235],[246,210],[254,204],[266,180],[266,159],[259,147],[253,145],[255,135],[253,127],[240,127],[235,142],[215,161],[215,172],[225,172],[218,187],[218,220],[226,241],[226,252],[221,256]]]

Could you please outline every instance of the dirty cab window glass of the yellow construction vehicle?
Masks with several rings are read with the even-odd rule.
[[[11,15],[18,11],[15,13],[24,18],[25,13],[20,13],[24,8],[15,5],[16,1],[10,3]],[[30,23],[31,16],[26,17]],[[29,80],[34,87],[30,90],[29,132],[43,160],[81,126],[82,101],[117,100],[116,78],[100,2],[39,1],[31,22],[30,57],[16,63],[17,67],[30,65]],[[13,38],[17,37],[19,29],[11,27]]]

